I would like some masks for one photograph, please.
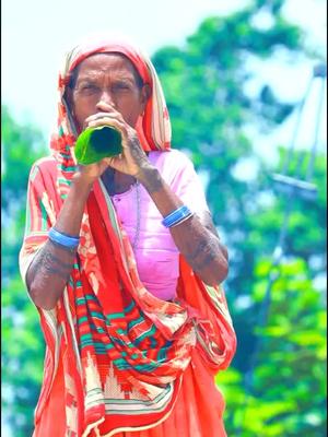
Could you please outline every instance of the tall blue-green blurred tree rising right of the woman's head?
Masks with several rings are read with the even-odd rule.
[[[271,180],[280,163],[268,166],[255,153],[245,128],[253,125],[272,129],[295,106],[278,101],[269,84],[250,97],[246,86],[256,72],[249,69],[248,61],[272,59],[282,49],[291,61],[304,54],[303,34],[283,19],[282,5],[283,1],[254,1],[230,16],[209,17],[183,47],[164,47],[153,57],[172,118],[174,145],[187,149],[198,170],[204,172],[210,180],[207,198],[231,255],[225,286],[243,341],[234,362],[242,370],[247,368],[251,354],[257,310],[250,304],[245,312],[235,304],[249,297],[257,260],[272,253],[284,208]],[[271,16],[269,28],[256,24],[262,12]],[[241,179],[236,168],[246,160],[257,163],[261,172],[250,179]],[[326,271],[323,157],[317,158],[315,175],[319,201],[311,208],[304,200],[295,202],[285,247],[291,256],[306,253],[307,260],[319,257],[319,268],[312,270],[313,275]],[[304,209],[309,211],[308,215]]]

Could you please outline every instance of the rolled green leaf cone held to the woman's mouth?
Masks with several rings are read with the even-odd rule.
[[[77,161],[82,165],[97,163],[121,151],[121,133],[113,126],[86,128],[78,137],[74,147]]]

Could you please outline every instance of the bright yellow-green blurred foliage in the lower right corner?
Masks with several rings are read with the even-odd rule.
[[[256,265],[251,297],[259,304],[270,264],[260,259]],[[235,368],[216,378],[227,399],[229,435],[326,435],[326,332],[323,295],[314,287],[306,262],[284,260],[272,286],[268,323],[257,332],[261,350],[251,392],[245,393],[243,375]]]

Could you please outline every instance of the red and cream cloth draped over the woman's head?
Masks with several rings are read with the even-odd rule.
[[[72,71],[87,57],[95,54],[115,52],[125,55],[134,66],[143,83],[149,84],[151,96],[144,113],[139,117],[136,130],[144,151],[167,150],[171,147],[171,122],[160,80],[151,60],[131,45],[122,42],[108,42],[99,38],[75,46],[67,54],[62,70],[59,73],[59,114],[58,132],[51,138],[54,152],[68,153],[74,145],[77,130],[65,101],[66,88]]]

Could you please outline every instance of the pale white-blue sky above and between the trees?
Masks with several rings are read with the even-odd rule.
[[[207,16],[226,15],[246,4],[246,0],[2,0],[2,103],[19,120],[34,122],[49,137],[57,118],[56,85],[62,54],[85,34],[110,29],[127,36],[151,56],[164,45],[183,45]],[[283,10],[290,21],[306,31],[307,45],[321,51],[327,32],[326,9],[325,0],[286,0]],[[266,16],[260,20],[267,25]],[[251,86],[256,88],[268,80],[286,102],[302,98],[313,69],[312,63],[300,61],[291,66],[283,58],[273,63],[257,61],[254,67],[258,81],[250,84],[250,92]],[[314,121],[317,88],[318,84],[307,105],[307,120]],[[284,126],[266,133],[268,144],[289,142],[293,123],[291,117]],[[301,137],[307,144],[314,126],[304,125]],[[321,125],[320,141],[325,142],[327,131]],[[261,137],[256,134],[255,147],[261,144]],[[269,146],[267,151],[270,158]]]

